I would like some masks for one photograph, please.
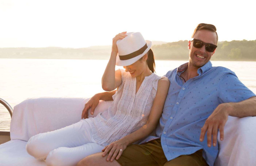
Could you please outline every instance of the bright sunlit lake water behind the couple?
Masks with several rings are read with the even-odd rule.
[[[108,60],[0,59],[0,98],[12,108],[32,97],[90,97],[102,92],[101,76]],[[156,61],[164,75],[186,61]],[[256,94],[256,62],[212,61],[225,66]],[[82,110],[81,110],[82,111]],[[11,117],[0,104],[0,131],[10,130]]]

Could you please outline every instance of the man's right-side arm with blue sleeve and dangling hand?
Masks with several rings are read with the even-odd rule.
[[[201,129],[200,141],[204,140],[204,135],[207,132],[208,147],[211,147],[212,143],[213,146],[217,145],[218,129],[220,130],[220,140],[224,139],[224,126],[228,116],[256,116],[256,96],[244,86],[235,73],[230,72],[224,75],[219,85],[220,104],[207,118]]]

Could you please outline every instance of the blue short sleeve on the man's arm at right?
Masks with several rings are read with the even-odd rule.
[[[219,86],[219,102],[241,102],[255,96],[236,76],[234,72],[229,72],[222,77]]]

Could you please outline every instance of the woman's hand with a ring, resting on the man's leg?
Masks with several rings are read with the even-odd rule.
[[[126,149],[127,146],[128,144],[124,140],[117,140],[102,149],[102,151],[104,152],[102,156],[105,157],[108,154],[107,161],[113,162],[115,158],[116,160],[120,158],[124,149]]]

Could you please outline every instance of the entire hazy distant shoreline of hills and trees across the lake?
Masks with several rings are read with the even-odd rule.
[[[188,60],[188,41],[153,45],[156,60]],[[0,48],[0,58],[109,59],[111,46]],[[220,41],[212,60],[256,61],[256,40]]]

